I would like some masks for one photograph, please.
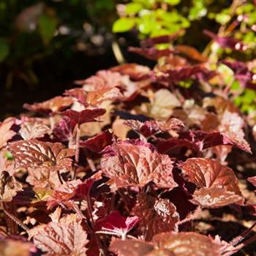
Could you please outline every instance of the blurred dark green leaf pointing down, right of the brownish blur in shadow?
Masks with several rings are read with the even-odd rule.
[[[55,18],[48,15],[41,15],[39,18],[39,33],[45,45],[48,45],[56,31],[57,22]]]

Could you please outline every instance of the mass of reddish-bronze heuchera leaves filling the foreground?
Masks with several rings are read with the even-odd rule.
[[[247,238],[256,222],[231,239],[197,228],[216,209],[255,215],[241,171],[255,141],[212,52],[156,47],[175,39],[132,48],[154,69],[101,70],[1,122],[1,255],[228,256],[256,240]],[[216,65],[252,85],[252,65],[224,57]]]

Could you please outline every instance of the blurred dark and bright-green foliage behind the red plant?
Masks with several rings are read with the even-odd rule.
[[[148,37],[178,33],[177,44],[217,56],[216,61],[228,54],[242,61],[255,58],[253,0],[0,0],[0,24],[1,116],[19,113],[23,102],[53,97],[72,87],[73,80],[123,61],[152,67],[153,62],[127,51]],[[214,48],[203,29],[232,32],[250,47],[245,54]],[[232,76],[232,70],[226,72]],[[247,111],[255,96],[244,91],[237,104],[247,100]]]

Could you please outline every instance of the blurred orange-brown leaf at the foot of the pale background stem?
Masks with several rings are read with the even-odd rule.
[[[122,64],[112,67],[110,70],[119,72],[121,75],[129,75],[132,80],[142,80],[143,78],[148,78],[150,74],[148,67],[134,63]]]

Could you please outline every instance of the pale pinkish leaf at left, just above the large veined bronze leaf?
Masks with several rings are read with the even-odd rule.
[[[50,128],[41,118],[24,118],[19,133],[24,140],[31,140],[50,135]]]

